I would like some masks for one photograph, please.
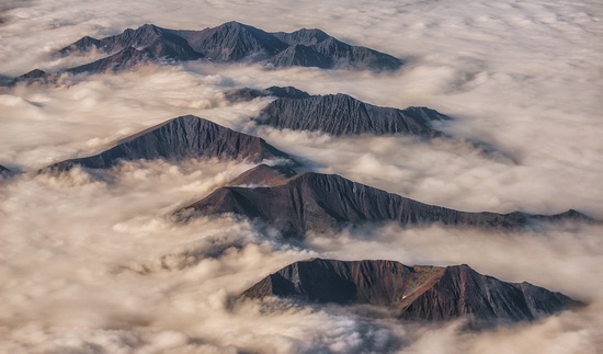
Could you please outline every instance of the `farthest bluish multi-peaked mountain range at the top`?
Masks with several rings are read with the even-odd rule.
[[[107,56],[64,71],[103,72],[130,68],[143,61],[187,60],[260,62],[269,68],[298,66],[373,71],[396,70],[402,66],[402,60],[388,54],[349,45],[317,28],[269,33],[239,22],[201,31],[145,24],[101,39],[84,36],[57,54],[69,56],[90,50]],[[9,83],[48,80],[54,76],[56,73],[35,69]]]

